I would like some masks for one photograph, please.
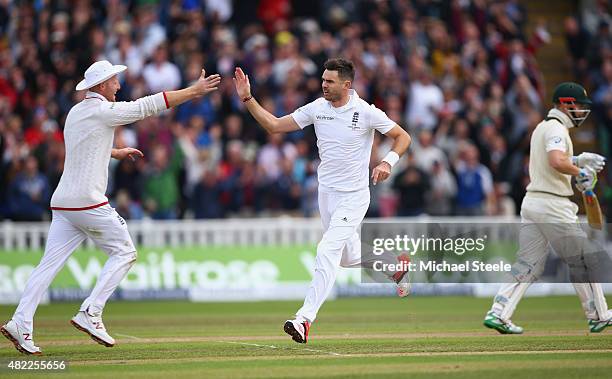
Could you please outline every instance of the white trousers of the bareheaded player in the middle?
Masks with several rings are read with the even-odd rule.
[[[317,245],[317,258],[304,305],[297,318],[313,322],[336,281],[338,267],[360,267],[361,240],[358,228],[370,205],[370,189],[354,192],[333,191],[319,186],[319,213],[323,238]]]

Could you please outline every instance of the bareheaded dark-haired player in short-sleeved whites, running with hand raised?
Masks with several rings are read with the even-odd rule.
[[[295,320],[288,320],[284,327],[300,343],[307,342],[310,324],[334,285],[338,267],[362,267],[358,228],[370,204],[368,167],[374,131],[394,140],[392,151],[372,171],[374,184],[389,177],[391,168],[410,145],[406,131],[350,89],[352,63],[343,59],[330,61],[322,77],[323,97],[281,118],[253,99],[248,76],[240,68],[236,68],[234,78],[248,111],[268,132],[289,132],[314,125],[317,136],[321,159],[319,212],[324,234],[317,246],[314,275],[304,305]],[[350,67],[349,74],[342,73],[342,67]],[[400,274],[398,277],[403,278],[404,273]]]

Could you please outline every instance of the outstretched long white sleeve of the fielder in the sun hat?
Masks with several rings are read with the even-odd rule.
[[[136,101],[104,101],[100,105],[99,116],[106,125],[114,127],[131,124],[168,108],[166,94],[160,92]]]

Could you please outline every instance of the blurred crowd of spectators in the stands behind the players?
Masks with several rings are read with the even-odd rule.
[[[125,218],[317,214],[313,128],[267,135],[231,80],[282,116],[321,96],[323,63],[352,60],[353,88],[413,137],[372,187],[369,216],[515,215],[529,182],[529,137],[550,106],[516,0],[0,0],[0,219],[49,219],[62,173],[62,128],[96,60],[125,64],[118,100],[189,85],[205,68],[218,91],[117,128],[108,197]],[[565,24],[594,118],[612,125],[607,3]],[[607,138],[612,139],[612,133]],[[374,165],[389,151],[377,134]]]

